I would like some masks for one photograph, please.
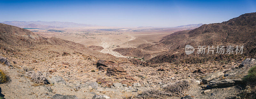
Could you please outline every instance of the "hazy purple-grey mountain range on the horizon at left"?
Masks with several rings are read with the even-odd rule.
[[[0,22],[8,25],[17,26],[20,28],[61,28],[61,27],[80,27],[80,26],[97,26],[92,24],[80,24],[73,22],[45,22],[45,21],[4,21]]]

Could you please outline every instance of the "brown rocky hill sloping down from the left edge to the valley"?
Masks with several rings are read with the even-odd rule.
[[[46,38],[29,30],[0,23],[1,49],[15,53],[30,53],[31,50],[55,52],[60,55],[66,53],[81,53],[98,58],[114,57],[97,51],[87,49],[83,44],[74,43],[56,37]],[[40,52],[38,52],[40,53]],[[31,55],[31,54],[29,54]],[[37,55],[31,55],[37,56]]]

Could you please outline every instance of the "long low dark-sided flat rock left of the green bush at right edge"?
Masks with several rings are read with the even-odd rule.
[[[225,88],[235,86],[237,84],[241,84],[243,82],[242,79],[224,79],[224,80],[212,80],[209,82],[209,85],[212,88]]]

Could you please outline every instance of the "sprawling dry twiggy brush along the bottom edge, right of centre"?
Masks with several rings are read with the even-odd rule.
[[[181,80],[174,82],[162,89],[148,89],[142,91],[137,96],[131,96],[127,99],[156,99],[156,98],[168,98],[170,96],[185,96],[185,92],[188,91],[190,82],[188,80]]]

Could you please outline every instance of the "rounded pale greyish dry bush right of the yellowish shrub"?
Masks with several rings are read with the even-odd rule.
[[[29,77],[32,82],[36,84],[45,84],[47,83],[46,76],[41,73],[41,71],[28,71],[25,73],[25,76]]]

